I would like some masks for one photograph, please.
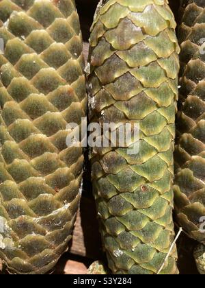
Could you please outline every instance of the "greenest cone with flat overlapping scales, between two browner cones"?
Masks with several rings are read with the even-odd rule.
[[[114,274],[156,274],[174,240],[176,23],[167,1],[104,1],[90,38],[90,117],[140,124],[139,153],[94,148],[94,195]],[[161,274],[177,274],[176,247]]]

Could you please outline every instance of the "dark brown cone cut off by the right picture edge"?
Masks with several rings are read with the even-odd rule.
[[[205,2],[183,1],[181,12],[175,206],[180,226],[205,244]]]

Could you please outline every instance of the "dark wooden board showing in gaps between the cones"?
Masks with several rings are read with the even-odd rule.
[[[90,26],[92,25],[98,0],[76,0],[76,3],[83,33],[83,51],[85,60],[87,60]],[[179,1],[170,0],[169,3],[177,16]],[[72,241],[70,241],[68,252],[61,256],[61,259],[59,259],[59,262],[55,266],[53,274],[86,274],[87,267],[89,267],[93,261],[97,259],[105,261],[105,254],[102,252],[98,232],[94,198],[92,197],[90,165],[87,160],[87,153],[85,154],[85,163],[86,170],[84,173],[83,196],[77,215],[77,222],[74,227],[73,238]],[[197,274],[192,256],[195,245],[195,241],[188,239],[184,234],[178,239],[178,267],[180,274]],[[4,271],[4,274],[5,273]]]

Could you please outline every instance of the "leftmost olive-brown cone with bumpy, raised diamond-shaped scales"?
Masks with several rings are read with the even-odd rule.
[[[0,258],[43,274],[67,249],[83,154],[66,146],[86,94],[74,0],[0,1]]]

